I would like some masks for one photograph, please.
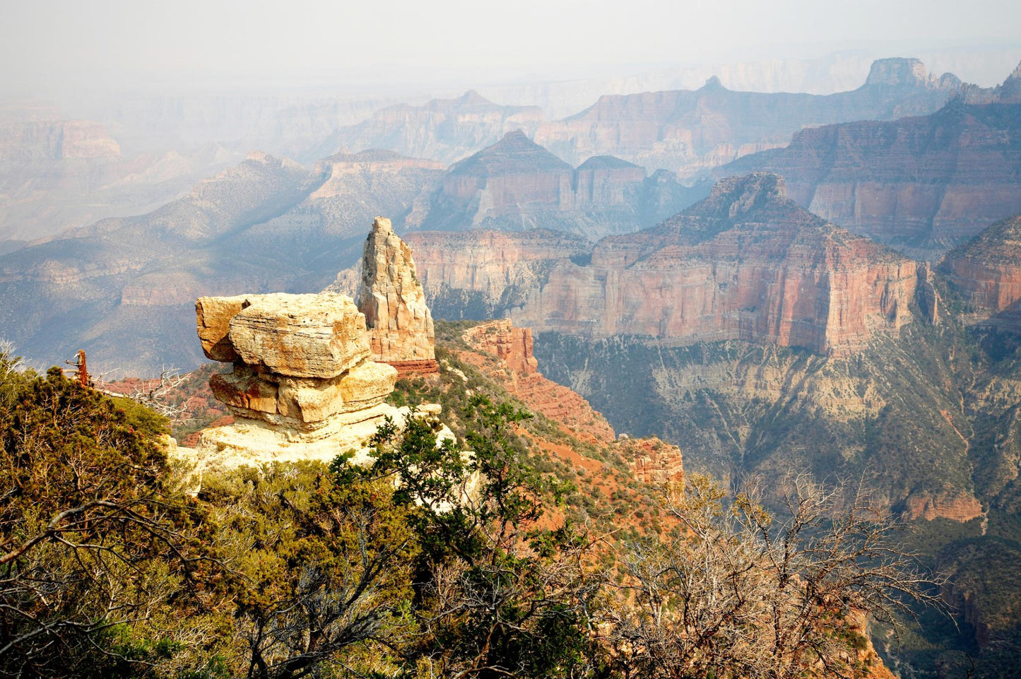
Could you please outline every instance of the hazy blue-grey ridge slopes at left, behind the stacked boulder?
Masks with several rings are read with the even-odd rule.
[[[135,375],[195,366],[196,297],[323,289],[357,258],[366,225],[406,213],[442,174],[434,167],[386,152],[309,172],[253,153],[153,212],[0,257],[0,326],[41,361],[85,348]]]

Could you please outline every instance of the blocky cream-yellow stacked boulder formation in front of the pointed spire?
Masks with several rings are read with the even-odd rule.
[[[209,386],[234,423],[202,432],[203,464],[333,459],[401,414],[384,403],[397,371],[370,359],[364,317],[333,294],[202,297],[202,350],[233,362]]]

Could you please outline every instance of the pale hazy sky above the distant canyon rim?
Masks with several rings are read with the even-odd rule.
[[[584,76],[1017,44],[1018,0],[0,0],[0,82],[66,86]]]

